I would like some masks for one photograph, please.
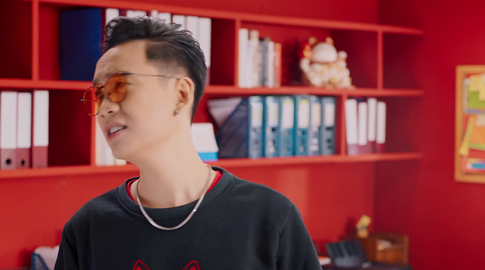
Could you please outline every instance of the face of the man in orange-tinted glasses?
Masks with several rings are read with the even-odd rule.
[[[119,72],[172,75],[161,74],[160,68],[146,60],[146,41],[131,41],[109,49],[97,62],[94,80],[97,85],[105,85],[111,75]],[[99,107],[97,120],[113,155],[130,161],[146,150],[167,142],[172,136],[178,95],[175,78],[125,77],[125,99],[113,103],[103,92],[105,98]],[[113,132],[116,127],[124,128]]]

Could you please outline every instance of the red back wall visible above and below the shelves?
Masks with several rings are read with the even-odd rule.
[[[290,0],[247,0],[244,4],[222,0],[163,2],[271,15],[377,22],[377,0],[311,0],[301,4]],[[337,240],[348,228],[352,229],[362,214],[374,214],[372,163],[229,170],[287,195],[301,211],[315,240]],[[0,269],[29,265],[30,253],[35,247],[59,244],[65,222],[82,204],[133,176],[121,173],[0,180]]]

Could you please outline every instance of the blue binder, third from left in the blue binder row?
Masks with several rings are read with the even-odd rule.
[[[294,154],[293,134],[295,122],[295,101],[291,96],[280,96],[279,100],[279,156]]]

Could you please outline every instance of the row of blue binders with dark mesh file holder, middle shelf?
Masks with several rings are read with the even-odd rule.
[[[219,158],[335,153],[335,98],[251,96],[208,101]]]

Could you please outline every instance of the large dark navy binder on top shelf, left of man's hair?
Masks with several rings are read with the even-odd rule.
[[[62,80],[91,81],[102,49],[101,8],[61,11],[60,64]]]

